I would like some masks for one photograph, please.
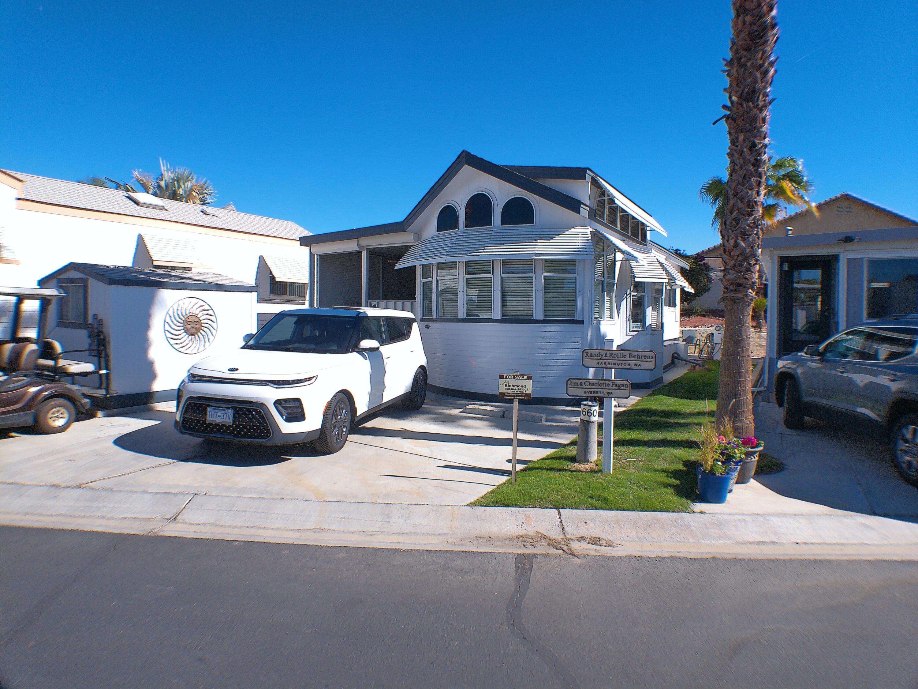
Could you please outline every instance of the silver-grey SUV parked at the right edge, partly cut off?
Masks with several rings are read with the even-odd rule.
[[[918,316],[864,323],[778,359],[784,425],[812,416],[888,438],[902,480],[918,487]]]

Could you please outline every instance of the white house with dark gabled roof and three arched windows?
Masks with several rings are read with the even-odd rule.
[[[303,237],[310,303],[413,311],[431,389],[496,397],[498,374],[531,373],[537,400],[566,400],[585,347],[653,349],[662,381],[688,265],[666,234],[586,167],[512,166],[462,152],[405,220]]]

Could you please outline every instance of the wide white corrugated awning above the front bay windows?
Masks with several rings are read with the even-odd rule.
[[[412,246],[396,267],[486,258],[591,258],[591,232],[588,227],[488,227],[440,232]]]

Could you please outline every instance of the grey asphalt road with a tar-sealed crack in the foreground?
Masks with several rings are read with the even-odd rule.
[[[911,687],[918,563],[0,528],[4,687]]]

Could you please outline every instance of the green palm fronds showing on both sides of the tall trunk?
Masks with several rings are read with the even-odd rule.
[[[787,155],[783,158],[768,158],[768,169],[765,177],[765,203],[762,206],[762,218],[771,225],[788,214],[788,209],[806,207],[817,216],[819,210],[813,206],[807,194],[812,193],[812,180],[803,169],[803,160]],[[720,228],[727,204],[727,181],[714,175],[701,185],[699,198],[711,205],[714,216],[711,227]]]

